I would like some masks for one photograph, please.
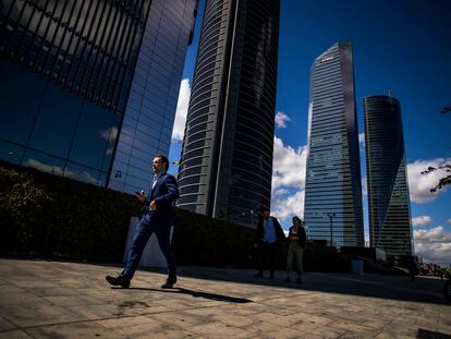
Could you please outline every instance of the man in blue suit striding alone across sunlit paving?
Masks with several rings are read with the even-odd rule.
[[[135,230],[124,269],[118,277],[106,277],[112,286],[130,287],[130,281],[136,271],[144,247],[154,232],[168,265],[168,279],[161,288],[172,288],[176,282],[175,259],[171,245],[171,227],[175,223],[175,213],[172,206],[179,198],[179,190],[175,178],[167,173],[168,168],[168,158],[163,155],[157,155],[153,161],[155,175],[150,192],[147,196],[143,191],[141,194],[136,193],[137,198],[144,203],[145,211]]]

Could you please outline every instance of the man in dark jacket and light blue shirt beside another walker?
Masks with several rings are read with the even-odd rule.
[[[273,279],[277,245],[284,242],[285,234],[279,221],[269,215],[268,208],[263,208],[254,241],[254,246],[260,250],[260,269],[254,277],[261,278],[265,266],[269,262],[269,278]]]

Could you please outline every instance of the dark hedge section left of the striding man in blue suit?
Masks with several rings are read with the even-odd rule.
[[[4,164],[0,192],[0,244],[8,254],[118,261],[139,208],[127,194]]]

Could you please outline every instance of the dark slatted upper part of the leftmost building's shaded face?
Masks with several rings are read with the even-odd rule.
[[[3,0],[0,53],[123,113],[150,0]]]

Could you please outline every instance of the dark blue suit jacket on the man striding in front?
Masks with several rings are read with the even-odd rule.
[[[146,196],[144,202],[147,208],[151,201],[155,201],[157,209],[151,211],[151,218],[157,225],[171,227],[176,221],[176,215],[173,209],[175,201],[179,198],[179,187],[173,175],[162,173],[154,187]]]

